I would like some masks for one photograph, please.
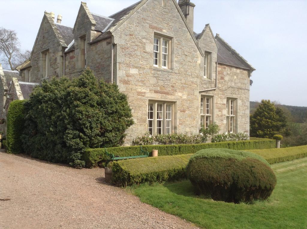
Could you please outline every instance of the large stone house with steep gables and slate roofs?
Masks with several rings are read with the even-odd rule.
[[[142,0],[105,17],[81,2],[72,28],[45,12],[21,78],[40,83],[90,67],[128,96],[135,124],[126,144],[146,132],[198,133],[213,122],[221,133],[249,133],[255,69],[209,24],[194,32],[194,8],[189,0]]]

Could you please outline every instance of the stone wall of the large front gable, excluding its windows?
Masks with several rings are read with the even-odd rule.
[[[171,69],[153,66],[155,33],[173,38]],[[149,100],[175,102],[177,133],[197,133],[201,54],[173,1],[166,1],[166,7],[159,0],[146,2],[114,32],[114,41],[117,84],[128,95],[135,121],[126,144],[147,132]]]

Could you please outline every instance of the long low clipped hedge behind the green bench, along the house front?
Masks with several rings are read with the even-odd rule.
[[[149,152],[158,150],[159,156],[169,155],[181,155],[181,154],[194,154],[202,149],[209,148],[225,148],[232,150],[253,150],[253,149],[269,149],[275,148],[275,140],[272,139],[261,139],[251,141],[235,141],[235,142],[218,142],[218,143],[203,143],[203,144],[181,144],[181,145],[151,145],[142,146],[145,151]],[[137,156],[140,152],[139,146],[129,147],[112,147],[107,148],[109,153],[115,156],[127,157]],[[106,160],[104,148],[98,149],[87,149],[83,154],[82,160],[85,161],[86,167],[95,167],[100,161]]]

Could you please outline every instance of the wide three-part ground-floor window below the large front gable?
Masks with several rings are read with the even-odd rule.
[[[175,103],[149,101],[147,129],[150,135],[174,133]]]

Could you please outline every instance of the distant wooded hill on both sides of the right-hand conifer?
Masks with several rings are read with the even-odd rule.
[[[250,113],[254,113],[257,107],[259,106],[259,102],[250,102]],[[303,123],[307,121],[307,107],[298,107],[298,106],[288,106],[288,105],[276,105],[280,107],[286,116],[288,116],[289,121],[296,123]]]

